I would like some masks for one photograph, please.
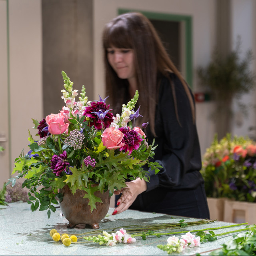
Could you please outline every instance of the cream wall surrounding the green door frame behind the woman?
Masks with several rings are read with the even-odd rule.
[[[117,16],[119,8],[192,16],[193,90],[198,90],[196,68],[208,63],[212,49],[216,46],[215,0],[94,0],[94,97],[98,94],[104,95],[102,30],[106,22]],[[211,108],[211,102],[196,106],[202,153],[210,145],[214,136],[214,125],[209,118]]]

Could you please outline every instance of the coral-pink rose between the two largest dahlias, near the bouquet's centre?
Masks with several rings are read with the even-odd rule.
[[[117,149],[124,146],[123,138],[124,134],[114,127],[106,128],[102,133],[103,145],[108,149]]]

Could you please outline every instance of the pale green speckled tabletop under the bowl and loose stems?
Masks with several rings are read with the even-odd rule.
[[[179,222],[182,219],[185,222],[198,220],[134,210],[126,210],[116,215],[112,215],[112,212],[113,208],[110,208],[106,217],[100,222],[101,230],[128,225]],[[83,228],[82,226],[80,228],[67,229],[68,221],[60,214],[60,208],[57,208],[56,212],[52,213],[50,219],[48,219],[46,211],[36,210],[32,212],[30,205],[23,202],[0,206],[0,255],[168,255],[156,246],[158,244],[166,244],[167,238],[170,236],[149,237],[146,240],[137,238],[134,244],[116,244],[116,246],[100,246],[93,242],[64,246],[61,242],[52,240],[49,235],[51,229],[56,229],[60,234],[82,234],[92,229]],[[215,221],[200,226],[184,227],[179,230],[192,231],[227,225],[230,225],[230,223]],[[239,228],[243,227],[220,229],[214,232],[219,234]],[[210,251],[221,248],[221,244],[231,237],[232,234],[220,236],[218,240],[202,243],[200,247],[186,248],[180,255],[195,255],[196,253],[208,255]]]

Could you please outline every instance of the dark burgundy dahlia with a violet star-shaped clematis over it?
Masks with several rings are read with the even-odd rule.
[[[109,112],[109,105],[107,106],[104,101],[92,102],[91,106],[85,108],[84,116],[89,117],[90,127],[94,125],[97,130],[108,128],[113,121],[113,114]]]

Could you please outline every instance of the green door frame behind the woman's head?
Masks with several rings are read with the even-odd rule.
[[[160,12],[144,12],[140,10],[118,9],[118,15],[126,12],[140,12],[152,20],[167,20],[184,22],[185,27],[185,77],[186,82],[193,86],[193,63],[192,63],[192,16],[168,14]]]

